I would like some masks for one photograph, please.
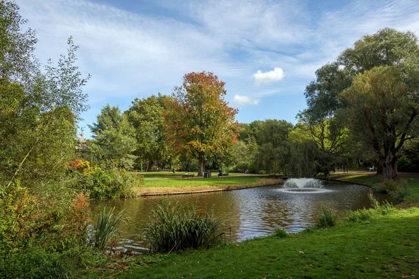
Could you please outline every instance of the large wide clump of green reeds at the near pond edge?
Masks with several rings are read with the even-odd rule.
[[[169,252],[186,248],[209,248],[223,241],[221,221],[215,220],[213,212],[198,214],[181,209],[164,200],[152,211],[143,230],[151,252]]]

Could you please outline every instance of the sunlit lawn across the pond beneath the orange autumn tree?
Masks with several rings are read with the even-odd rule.
[[[267,176],[254,176],[242,174],[230,174],[230,176],[218,177],[216,174],[211,178],[185,178],[182,173],[171,172],[138,172],[138,177],[144,179],[144,186],[135,188],[137,195],[155,195],[172,193],[193,193],[212,190],[232,190],[267,186],[280,183],[278,179],[269,179]],[[190,173],[195,174],[196,173]]]

